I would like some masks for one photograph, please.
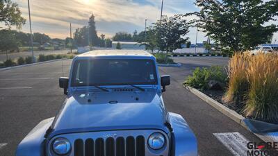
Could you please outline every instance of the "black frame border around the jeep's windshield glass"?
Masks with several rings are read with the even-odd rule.
[[[112,60],[112,61],[146,61],[151,62],[152,64],[152,71],[154,75],[154,81],[152,82],[124,82],[124,83],[76,83],[74,79],[76,79],[76,72],[77,72],[77,66],[80,62],[88,62],[88,61],[101,61],[101,60]],[[124,72],[124,71],[123,71]],[[94,85],[98,86],[108,86],[108,85],[158,85],[158,77],[157,77],[157,71],[156,71],[156,64],[155,61],[152,59],[134,59],[134,58],[126,58],[126,59],[116,59],[116,58],[92,58],[92,59],[81,59],[74,61],[74,64],[72,66],[72,76],[71,76],[71,87],[93,87]]]

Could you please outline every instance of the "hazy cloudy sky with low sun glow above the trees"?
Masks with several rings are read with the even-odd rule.
[[[27,0],[14,0],[28,19]],[[171,16],[198,11],[195,0],[164,0],[163,15]],[[138,32],[160,19],[161,0],[30,0],[31,24],[33,32],[45,33],[50,37],[65,39],[76,28],[88,25],[88,19],[95,15],[97,33],[112,37],[119,31]],[[29,21],[22,31],[29,32]],[[186,37],[195,43],[196,28],[190,28]],[[275,37],[278,40],[278,33]],[[198,32],[197,42],[206,40],[205,34]]]

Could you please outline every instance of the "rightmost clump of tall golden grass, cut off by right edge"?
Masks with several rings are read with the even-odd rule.
[[[259,53],[247,60],[247,81],[250,85],[245,116],[278,123],[278,54]]]

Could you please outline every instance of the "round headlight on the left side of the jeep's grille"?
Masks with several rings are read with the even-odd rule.
[[[66,155],[72,148],[70,141],[62,137],[55,139],[52,146],[54,152],[58,155]]]

